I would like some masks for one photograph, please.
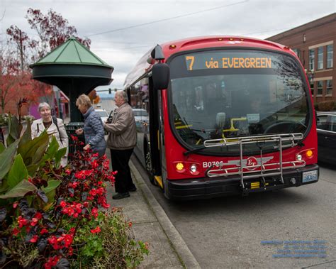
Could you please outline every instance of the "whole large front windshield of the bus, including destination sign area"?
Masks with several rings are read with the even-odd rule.
[[[308,88],[296,60],[260,50],[215,50],[169,63],[171,121],[187,148],[209,139],[306,133]],[[254,153],[257,146],[245,145]],[[274,145],[266,148],[274,149]],[[239,153],[238,146],[202,153]]]

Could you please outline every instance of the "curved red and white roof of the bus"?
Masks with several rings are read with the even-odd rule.
[[[286,53],[293,53],[291,52],[291,50],[289,50],[289,47],[271,42],[269,40],[233,35],[213,35],[185,38],[181,40],[174,40],[167,43],[162,43],[161,47],[165,57],[164,61],[167,61],[167,59],[175,53],[187,50],[197,50],[200,48],[261,48],[264,50],[279,50]],[[140,58],[133,70],[128,74],[124,82],[125,87],[133,84],[135,81],[138,80],[138,78],[145,74],[147,70],[150,70],[152,64],[154,64],[154,61],[149,63],[148,59],[150,59],[150,53],[153,48],[151,48],[147,53],[145,53],[145,55]]]

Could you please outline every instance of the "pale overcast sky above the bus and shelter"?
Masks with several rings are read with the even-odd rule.
[[[110,87],[153,45],[201,35],[268,38],[336,10],[336,0],[0,0],[1,41],[6,28],[35,35],[26,21],[29,8],[60,13],[91,51],[114,67]],[[133,27],[136,26],[136,27]]]

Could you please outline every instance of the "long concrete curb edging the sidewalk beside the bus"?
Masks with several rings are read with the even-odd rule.
[[[179,234],[179,231],[177,231],[159,202],[157,202],[157,199],[155,199],[149,187],[147,187],[146,183],[142,179],[142,176],[133,165],[132,160],[130,160],[130,170],[134,175],[135,181],[138,182],[138,189],[142,192],[145,202],[148,204],[148,207],[150,207],[150,210],[159,222],[165,236],[167,236],[167,240],[174,252],[177,254],[177,258],[179,258],[181,265],[185,268],[201,268],[188,246],[186,246],[186,242],[184,242],[183,238]]]

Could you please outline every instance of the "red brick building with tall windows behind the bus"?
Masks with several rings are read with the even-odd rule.
[[[314,103],[336,101],[336,13],[267,38],[289,46],[307,70]]]

